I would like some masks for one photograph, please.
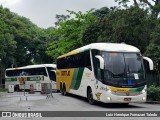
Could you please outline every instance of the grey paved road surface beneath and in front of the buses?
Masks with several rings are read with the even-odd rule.
[[[60,93],[53,93],[53,97],[41,95],[40,93],[25,94],[21,93],[0,93],[0,111],[160,111],[160,104],[132,103],[128,106],[120,104],[88,104],[87,100],[75,95],[62,96]],[[95,113],[94,112],[94,113]],[[93,113],[93,114],[94,114]],[[53,112],[55,114],[55,112]],[[56,113],[57,114],[57,113]],[[64,112],[62,114],[65,114]],[[73,114],[75,114],[73,112]],[[79,113],[81,114],[81,113]],[[154,117],[158,120],[160,117]],[[74,117],[50,117],[50,118],[0,118],[0,120],[75,120]],[[79,120],[93,119],[113,119],[113,117],[78,117]],[[114,117],[116,120],[143,120],[144,117]],[[146,119],[153,119],[148,117]]]

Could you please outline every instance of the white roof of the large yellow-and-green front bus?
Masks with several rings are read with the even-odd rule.
[[[138,48],[131,45],[127,45],[125,43],[92,43],[81,48],[75,49],[67,54],[61,55],[58,58],[74,55],[90,49],[97,49],[100,51],[108,52],[140,52]]]

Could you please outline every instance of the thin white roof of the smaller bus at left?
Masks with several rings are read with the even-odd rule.
[[[8,68],[6,70],[29,69],[29,68],[40,68],[40,67],[53,67],[53,68],[56,68],[56,64],[27,65],[27,66],[17,67],[17,68]]]

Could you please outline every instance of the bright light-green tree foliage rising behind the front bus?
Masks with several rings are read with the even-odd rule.
[[[68,12],[74,17],[58,22],[57,28],[51,34],[53,41],[49,44],[47,54],[54,59],[61,54],[83,46],[83,33],[96,20],[96,17],[91,13],[92,10],[85,14],[69,10]]]

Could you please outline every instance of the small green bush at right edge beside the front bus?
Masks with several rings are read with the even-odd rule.
[[[147,98],[152,101],[160,101],[160,87],[151,85],[147,89]]]

